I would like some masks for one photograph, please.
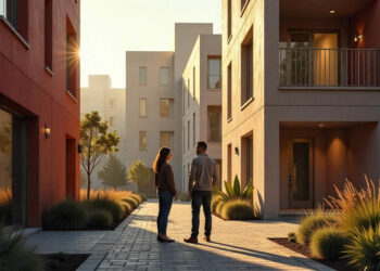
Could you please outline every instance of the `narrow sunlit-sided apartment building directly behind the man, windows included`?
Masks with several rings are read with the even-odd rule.
[[[198,141],[208,143],[221,184],[221,36],[200,35],[182,75],[182,191]]]

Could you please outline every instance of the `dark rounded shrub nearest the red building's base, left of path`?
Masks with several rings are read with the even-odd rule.
[[[88,221],[88,212],[81,203],[65,201],[42,215],[45,230],[80,230]]]

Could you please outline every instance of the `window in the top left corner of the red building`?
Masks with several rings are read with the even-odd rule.
[[[28,0],[0,0],[0,16],[24,38],[28,34]]]

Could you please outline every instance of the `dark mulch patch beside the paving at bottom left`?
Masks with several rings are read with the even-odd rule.
[[[67,254],[64,259],[56,260],[53,254],[40,256],[47,271],[75,271],[89,257],[87,254]]]

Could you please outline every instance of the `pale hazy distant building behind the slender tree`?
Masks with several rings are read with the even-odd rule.
[[[126,164],[126,90],[112,88],[109,75],[90,75],[88,78],[88,88],[80,89],[80,119],[85,118],[86,113],[99,112],[103,121],[107,121],[109,130],[116,131],[121,138],[118,152],[115,155],[128,168]],[[106,157],[93,170],[91,182],[94,189],[104,189],[102,181],[98,178],[98,171],[102,169]]]

